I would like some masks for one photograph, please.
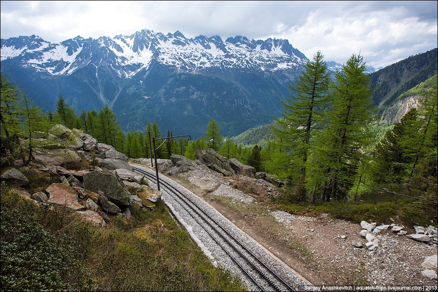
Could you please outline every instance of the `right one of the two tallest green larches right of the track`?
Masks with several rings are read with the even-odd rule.
[[[327,177],[324,200],[344,200],[360,163],[364,149],[374,137],[374,120],[369,77],[361,55],[353,54],[335,74],[332,104],[325,110],[328,127],[317,132],[313,161]]]

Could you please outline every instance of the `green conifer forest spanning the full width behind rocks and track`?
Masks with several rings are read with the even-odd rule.
[[[254,142],[245,145],[222,137],[215,119],[204,126],[203,137],[192,141],[170,138],[173,133],[162,133],[155,121],[148,121],[144,132],[124,132],[108,106],[77,114],[62,95],[55,112],[42,112],[23,89],[2,75],[1,164],[17,158],[28,163],[35,133],[63,124],[83,130],[130,158],[150,158],[152,137],[169,137],[163,139],[157,158],[180,154],[196,159],[196,148],[213,148],[286,182],[284,199],[288,202],[356,201],[387,190],[436,202],[437,75],[411,89],[421,96],[419,108],[381,132],[382,139],[371,98],[373,82],[365,74],[361,55],[353,54],[333,80],[318,52],[296,84],[289,86],[291,97],[282,101],[281,116],[274,117],[273,124],[245,133],[246,141]]]

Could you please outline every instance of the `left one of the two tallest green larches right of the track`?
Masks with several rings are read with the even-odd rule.
[[[318,51],[308,62],[303,73],[289,89],[294,93],[282,100],[283,112],[280,118],[274,117],[273,134],[279,148],[274,159],[281,167],[290,168],[289,178],[298,178],[295,192],[299,200],[304,200],[306,171],[309,147],[313,143],[312,134],[321,122],[323,106],[327,101],[330,85],[330,72],[324,55]],[[286,164],[286,165],[285,165]]]

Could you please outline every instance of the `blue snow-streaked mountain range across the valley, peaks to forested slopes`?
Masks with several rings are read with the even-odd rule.
[[[272,122],[308,61],[286,39],[188,39],[179,31],[60,43],[1,39],[1,73],[43,110],[54,111],[62,94],[77,113],[108,104],[125,131],[156,121],[163,132],[193,138],[212,118],[224,136]]]

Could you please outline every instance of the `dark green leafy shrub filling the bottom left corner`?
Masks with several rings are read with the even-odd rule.
[[[38,208],[2,186],[1,291],[91,290],[77,241],[46,229]]]

